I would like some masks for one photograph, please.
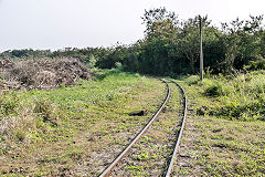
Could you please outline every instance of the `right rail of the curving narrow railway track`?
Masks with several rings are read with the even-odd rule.
[[[174,83],[177,86],[180,87],[182,94],[183,94],[183,100],[184,100],[184,108],[183,108],[183,118],[182,118],[182,125],[181,125],[181,128],[180,128],[180,132],[179,132],[179,135],[178,135],[178,139],[177,139],[177,143],[176,143],[176,146],[174,146],[174,150],[173,150],[173,154],[172,154],[172,157],[171,157],[171,160],[170,160],[170,164],[168,166],[168,170],[167,170],[167,174],[166,174],[166,177],[169,177],[170,174],[171,174],[171,170],[173,168],[173,163],[174,163],[174,159],[176,159],[176,155],[177,155],[177,152],[178,152],[178,148],[179,148],[179,145],[180,145],[180,139],[181,139],[181,136],[182,136],[182,133],[183,133],[183,129],[184,129],[184,123],[186,123],[186,116],[187,116],[187,96],[186,96],[186,92],[184,90],[174,81],[171,81],[172,83]]]

